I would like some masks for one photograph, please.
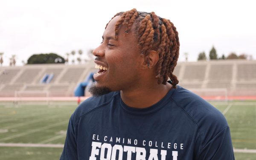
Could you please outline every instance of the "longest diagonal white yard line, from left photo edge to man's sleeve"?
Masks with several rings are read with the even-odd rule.
[[[38,132],[38,131],[43,131],[45,129],[49,129],[49,128],[52,128],[52,127],[55,127],[55,126],[60,126],[60,125],[67,124],[67,123],[68,123],[67,121],[64,121],[64,122],[55,123],[55,124],[52,124],[52,125],[49,125],[49,126],[41,127],[41,128],[38,128],[38,129],[32,129],[30,131],[26,131],[26,132],[23,132],[23,133],[20,133],[20,134],[15,134],[15,135],[12,135],[12,136],[9,136],[9,137],[2,138],[2,139],[0,139],[0,141],[11,140],[13,138],[21,137],[21,136],[24,136],[24,135],[27,135],[27,134]]]

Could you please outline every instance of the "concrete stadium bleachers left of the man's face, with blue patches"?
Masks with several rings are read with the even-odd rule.
[[[51,97],[70,97],[87,74],[96,71],[94,66],[95,63],[88,62],[86,65],[41,64],[0,67],[0,97],[14,97],[15,91],[48,91]],[[41,80],[47,74],[53,74],[52,79],[49,83],[42,83]]]

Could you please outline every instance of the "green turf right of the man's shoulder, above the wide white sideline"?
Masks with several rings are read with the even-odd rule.
[[[227,105],[213,105],[221,112],[227,108]],[[233,147],[256,149],[256,102],[250,105],[233,103],[225,117],[230,126]]]

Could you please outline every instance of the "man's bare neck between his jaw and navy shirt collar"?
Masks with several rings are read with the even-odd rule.
[[[142,109],[160,101],[170,89],[172,89],[170,83],[142,86],[132,91],[121,91],[121,98],[127,106]]]

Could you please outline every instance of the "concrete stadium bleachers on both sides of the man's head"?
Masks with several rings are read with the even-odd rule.
[[[73,96],[76,86],[94,68],[86,65],[43,64],[0,67],[0,97],[15,91],[48,91],[52,97]],[[41,80],[53,74],[49,83]],[[179,85],[186,89],[227,89],[229,95],[256,95],[256,61],[211,60],[178,62],[174,70]]]

